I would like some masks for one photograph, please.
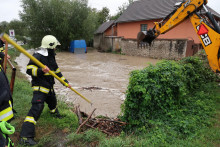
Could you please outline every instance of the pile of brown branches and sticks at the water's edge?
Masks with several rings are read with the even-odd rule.
[[[120,121],[119,119],[103,119],[103,118],[91,118],[92,114],[95,112],[94,109],[86,120],[83,121],[82,113],[79,109],[79,106],[75,108],[75,113],[79,119],[79,128],[76,133],[80,133],[80,130],[86,130],[88,128],[98,129],[101,132],[109,136],[118,136],[122,131],[122,127],[126,125],[125,122]],[[85,116],[85,113],[84,113]]]

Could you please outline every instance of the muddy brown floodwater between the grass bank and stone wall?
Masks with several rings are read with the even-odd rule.
[[[33,53],[33,50],[30,50]],[[94,116],[103,115],[117,117],[120,106],[125,100],[125,92],[132,70],[143,69],[149,63],[156,64],[158,60],[126,56],[111,53],[100,53],[88,50],[88,53],[61,52],[56,56],[59,68],[71,86],[89,99],[89,104],[72,90],[56,81],[55,90],[58,98],[74,105],[80,105],[80,110],[91,113],[97,108]],[[25,73],[29,59],[21,54],[16,62]],[[30,77],[29,77],[30,79]]]

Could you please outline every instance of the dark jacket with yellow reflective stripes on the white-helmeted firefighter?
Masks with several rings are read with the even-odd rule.
[[[34,53],[33,56],[42,64],[46,65],[58,77],[68,83],[68,81],[63,77],[56,63],[54,50],[48,49],[48,56],[43,56],[39,53]],[[48,90],[53,89],[53,85],[55,84],[54,77],[49,73],[44,73],[42,68],[37,66],[33,61],[30,60],[28,63],[26,72],[32,77],[31,82],[34,90],[48,93]]]

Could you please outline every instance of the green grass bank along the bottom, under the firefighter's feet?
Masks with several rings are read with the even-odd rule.
[[[19,53],[15,50],[9,50],[9,54],[14,60]],[[14,63],[15,64],[15,63]],[[10,70],[8,69],[10,79]],[[213,87],[214,83],[213,83]],[[44,111],[36,125],[36,140],[39,142],[38,147],[55,147],[55,146],[100,146],[100,147],[141,147],[141,146],[187,146],[187,147],[217,147],[220,146],[220,87],[211,89],[209,94],[215,97],[214,107],[216,114],[210,120],[210,125],[197,130],[193,136],[187,138],[175,138],[172,132],[166,132],[163,127],[158,127],[155,131],[149,131],[145,134],[126,134],[122,132],[120,136],[108,137],[98,130],[87,130],[84,133],[76,134],[78,120],[72,112],[72,105],[64,102],[58,102],[58,108],[63,119],[51,117],[48,107],[45,104]],[[209,89],[207,89],[209,91]],[[11,135],[15,145],[18,145],[19,132],[23,120],[31,107],[32,89],[31,84],[26,77],[17,70],[17,76],[14,87],[14,108],[17,111],[15,119],[11,122],[16,128],[16,132]],[[199,127],[199,126],[198,126]]]

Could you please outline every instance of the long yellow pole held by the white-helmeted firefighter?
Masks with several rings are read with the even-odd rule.
[[[18,51],[20,51],[21,53],[23,53],[25,56],[27,56],[28,58],[30,58],[35,64],[37,64],[39,67],[41,68],[45,68],[46,66],[43,65],[39,60],[37,60],[35,57],[33,57],[31,54],[29,54],[24,48],[22,48],[20,45],[18,45],[16,42],[14,42],[13,40],[11,40],[9,38],[9,36],[5,33],[1,34],[0,37],[3,37],[8,43],[12,44]],[[56,78],[58,81],[60,81],[62,84],[64,84],[66,87],[68,87],[69,85],[63,81],[60,77],[58,77],[54,72],[52,72],[51,70],[49,71],[49,73]],[[83,95],[81,95],[79,92],[77,92],[75,89],[73,89],[72,87],[70,88],[72,91],[74,91],[76,94],[78,94],[80,97],[82,97],[84,100],[86,100],[88,103],[92,104],[90,100],[88,100],[87,98],[85,98]]]

